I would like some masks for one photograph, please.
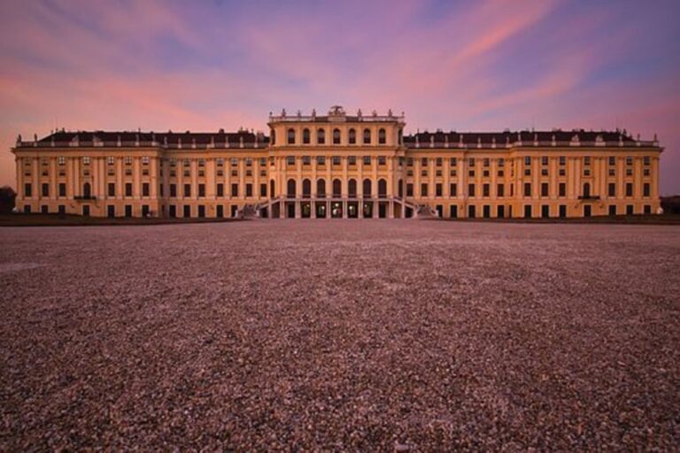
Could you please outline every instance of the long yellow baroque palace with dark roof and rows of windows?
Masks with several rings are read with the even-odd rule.
[[[24,212],[108,217],[587,217],[660,209],[656,137],[404,134],[403,113],[269,116],[269,136],[57,131],[16,157]]]

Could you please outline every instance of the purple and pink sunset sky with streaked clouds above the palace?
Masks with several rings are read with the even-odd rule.
[[[407,133],[658,134],[680,194],[679,24],[678,0],[2,0],[0,186],[17,134],[266,131],[340,104]]]

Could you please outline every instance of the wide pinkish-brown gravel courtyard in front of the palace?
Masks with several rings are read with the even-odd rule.
[[[674,449],[680,227],[0,229],[0,450]]]

